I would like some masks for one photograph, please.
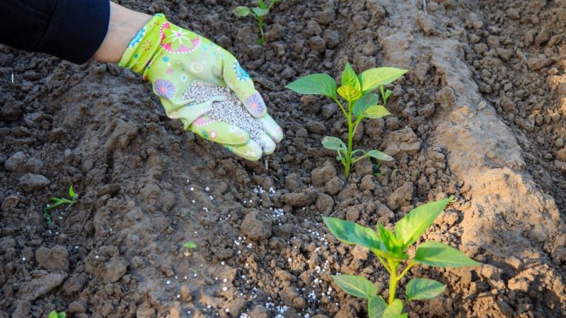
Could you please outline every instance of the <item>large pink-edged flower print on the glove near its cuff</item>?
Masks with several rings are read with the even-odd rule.
[[[163,23],[161,26],[161,47],[170,53],[187,54],[199,47],[201,38],[177,25]]]

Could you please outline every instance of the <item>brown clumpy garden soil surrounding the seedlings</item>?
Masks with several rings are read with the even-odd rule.
[[[411,269],[448,287],[405,312],[566,316],[566,1],[286,0],[262,46],[231,13],[246,1],[119,3],[233,52],[285,139],[234,158],[130,71],[0,47],[0,317],[366,317],[330,275],[386,296],[386,271],[322,216],[391,228],[447,195],[424,239],[484,265]],[[347,133],[337,106],[284,88],[339,79],[347,61],[409,69],[389,86],[393,115],[354,139],[394,156],[378,176],[368,160],[345,179],[320,146]],[[42,207],[71,185],[80,203],[47,226]]]

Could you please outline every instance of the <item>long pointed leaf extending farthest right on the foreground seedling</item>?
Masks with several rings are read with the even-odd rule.
[[[480,263],[466,254],[440,242],[424,242],[417,248],[413,259],[417,263],[438,267],[478,266]]]

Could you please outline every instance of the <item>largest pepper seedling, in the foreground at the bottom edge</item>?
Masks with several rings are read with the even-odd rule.
[[[478,266],[480,263],[470,259],[454,247],[441,242],[422,242],[413,257],[407,249],[424,234],[454,196],[434,201],[414,208],[404,218],[395,223],[395,233],[378,224],[378,230],[366,228],[357,223],[339,218],[323,218],[324,223],[340,242],[348,245],[361,245],[374,253],[389,273],[389,297],[386,302],[377,294],[376,285],[366,278],[355,275],[332,276],[337,285],[350,295],[369,300],[370,318],[407,318],[403,313],[403,301],[395,298],[397,284],[416,264],[437,267]],[[400,271],[399,266],[406,263]],[[412,278],[405,287],[405,301],[430,300],[444,292],[446,285],[428,278]]]

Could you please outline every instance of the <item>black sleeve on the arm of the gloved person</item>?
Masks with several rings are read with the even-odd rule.
[[[81,64],[108,31],[108,0],[0,0],[0,43]]]

